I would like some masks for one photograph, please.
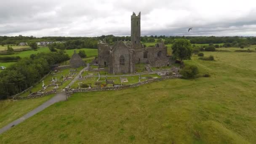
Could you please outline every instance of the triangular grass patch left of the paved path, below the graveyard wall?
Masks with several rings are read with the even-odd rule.
[[[0,101],[0,128],[4,127],[8,123],[11,123],[13,120],[20,118],[32,109],[35,109],[51,97],[53,97],[53,95],[35,99],[16,101],[8,99]]]

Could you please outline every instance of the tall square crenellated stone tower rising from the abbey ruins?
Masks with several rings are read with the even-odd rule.
[[[138,16],[134,12],[131,15],[131,47],[141,47],[141,12]]]

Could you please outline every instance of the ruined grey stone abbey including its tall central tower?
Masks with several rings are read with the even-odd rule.
[[[131,42],[117,41],[115,45],[98,43],[99,67],[108,67],[111,74],[134,73],[135,64],[146,63],[152,67],[163,67],[169,62],[167,47],[163,41],[155,47],[141,44],[141,13],[131,15]]]

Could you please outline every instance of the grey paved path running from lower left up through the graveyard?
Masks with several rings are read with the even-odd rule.
[[[88,67],[89,67],[89,64],[87,64],[87,67],[83,68],[79,72],[79,74],[74,77],[74,79],[69,83],[69,85],[71,86],[79,78],[79,75],[83,72],[83,70],[88,69]],[[55,96],[53,96],[53,98],[51,98],[48,101],[46,101],[45,103],[41,104],[39,107],[33,109],[26,115],[20,117],[19,119],[15,120],[15,121],[9,123],[8,125],[6,125],[5,127],[1,128],[0,134],[9,130],[10,128],[12,128],[12,126],[15,127],[15,125],[18,125],[19,123],[23,122],[24,120],[28,119],[29,117],[32,117],[33,115],[37,114],[38,112],[41,112],[42,110],[51,106],[52,104],[59,102],[59,101],[65,101],[65,100],[66,100],[66,93],[57,93]]]

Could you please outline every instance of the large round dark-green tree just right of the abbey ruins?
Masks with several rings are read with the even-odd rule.
[[[173,56],[175,59],[183,61],[185,59],[191,59],[192,47],[189,40],[176,39],[172,46]]]

